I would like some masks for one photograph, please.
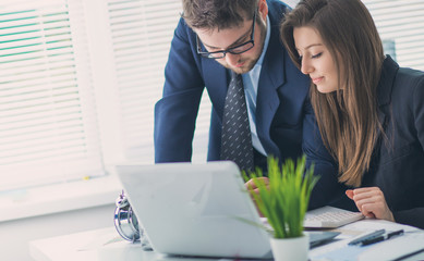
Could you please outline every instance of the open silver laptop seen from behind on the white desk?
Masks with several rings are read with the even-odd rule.
[[[126,164],[116,170],[155,251],[220,258],[272,257],[269,234],[252,225],[262,221],[234,163]]]

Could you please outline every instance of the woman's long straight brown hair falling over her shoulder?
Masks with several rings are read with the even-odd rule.
[[[299,67],[293,28],[301,26],[316,29],[338,69],[339,89],[322,94],[311,84],[311,102],[323,141],[338,162],[339,182],[360,186],[383,132],[376,97],[385,55],[377,28],[360,0],[300,1],[281,25],[282,41]]]

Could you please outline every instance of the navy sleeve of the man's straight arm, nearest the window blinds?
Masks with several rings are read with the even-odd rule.
[[[204,89],[191,34],[181,18],[165,69],[163,96],[155,105],[155,162],[191,161]]]

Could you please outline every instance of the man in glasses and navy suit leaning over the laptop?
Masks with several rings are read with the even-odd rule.
[[[156,162],[191,160],[205,87],[213,103],[207,159],[232,160],[221,157],[231,72],[243,79],[253,165],[265,169],[269,154],[281,161],[301,156],[303,121],[312,110],[308,79],[280,41],[286,12],[288,7],[276,0],[183,0],[165,70],[163,98],[155,108]]]

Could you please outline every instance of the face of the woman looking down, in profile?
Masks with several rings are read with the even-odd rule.
[[[300,55],[302,73],[310,75],[319,92],[341,89],[335,60],[320,35],[310,26],[293,29],[294,45]]]

